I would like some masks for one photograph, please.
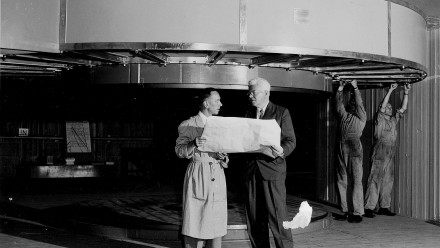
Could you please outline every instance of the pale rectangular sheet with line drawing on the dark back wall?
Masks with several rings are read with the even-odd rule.
[[[89,122],[66,122],[66,141],[68,153],[92,152]]]

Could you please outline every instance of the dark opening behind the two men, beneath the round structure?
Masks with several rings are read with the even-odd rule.
[[[17,177],[18,169],[38,166],[42,156],[53,156],[62,164],[68,156],[64,149],[65,122],[88,121],[91,125],[92,154],[84,164],[106,163],[109,158],[120,167],[119,176],[151,177],[159,183],[179,185],[187,161],[174,152],[177,127],[197,114],[199,89],[152,88],[145,85],[91,85],[53,78],[49,80],[2,79],[0,104],[0,166],[2,177]],[[247,105],[245,90],[219,90],[223,109],[220,116],[241,116]],[[288,157],[289,193],[314,198],[322,129],[320,116],[328,96],[311,91],[276,91],[271,100],[289,109],[297,138],[297,148]],[[30,152],[17,151],[16,130],[30,127],[26,143]],[[322,130],[321,130],[322,131]],[[59,137],[56,145],[32,137]],[[46,143],[45,143],[46,142]],[[325,154],[324,154],[325,155]],[[107,160],[107,161],[106,161]],[[233,164],[233,162],[232,162]],[[136,170],[133,170],[135,168]],[[239,175],[227,170],[229,188],[238,185]]]

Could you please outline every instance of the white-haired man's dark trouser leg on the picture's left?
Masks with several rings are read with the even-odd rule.
[[[263,182],[259,173],[257,170],[245,185],[247,191],[245,203],[247,231],[253,248],[269,248],[268,214],[264,200]]]

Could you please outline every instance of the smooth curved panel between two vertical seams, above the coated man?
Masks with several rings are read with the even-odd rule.
[[[68,1],[66,43],[239,43],[239,1]]]

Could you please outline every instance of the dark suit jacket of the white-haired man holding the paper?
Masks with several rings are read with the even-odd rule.
[[[256,108],[252,107],[246,112],[245,117],[256,118],[256,113]],[[271,158],[264,154],[250,154],[246,156],[244,177],[249,180],[258,168],[265,180],[284,180],[286,179],[285,157],[289,156],[296,147],[295,131],[289,110],[269,102],[263,117],[260,117],[260,119],[275,119],[280,126],[281,147],[284,150],[284,157]]]

